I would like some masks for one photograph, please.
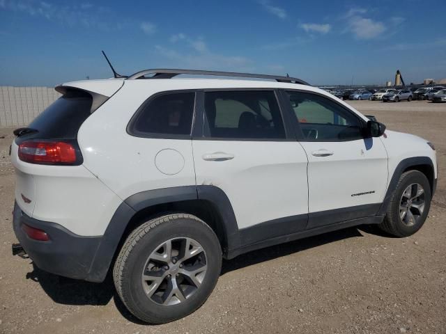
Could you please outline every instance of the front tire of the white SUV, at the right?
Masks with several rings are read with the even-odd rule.
[[[419,209],[415,209],[415,207],[412,207],[407,210],[406,214],[403,214],[404,218],[401,218],[401,207],[405,206],[401,205],[401,203],[405,201],[406,189],[409,189],[410,187],[410,195],[416,193],[413,184],[421,186],[424,190],[424,193],[422,193],[422,195],[420,195],[418,198],[415,198],[413,202],[416,203],[415,206],[420,206],[419,203],[423,200],[424,207],[421,214]],[[416,189],[419,189],[419,187],[417,187]],[[410,203],[412,203],[412,201]],[[417,230],[420,230],[420,228],[424,224],[424,221],[426,221],[426,217],[429,213],[430,207],[431,186],[429,184],[429,181],[427,180],[426,175],[419,172],[418,170],[409,170],[408,172],[403,173],[403,175],[401,175],[401,177],[399,178],[397,188],[390,198],[390,203],[387,207],[384,221],[383,223],[380,223],[378,227],[388,234],[392,234],[394,237],[408,237],[417,232]],[[410,217],[408,214],[409,212],[413,216],[413,220],[410,219],[410,222],[412,222],[412,224],[407,223]]]

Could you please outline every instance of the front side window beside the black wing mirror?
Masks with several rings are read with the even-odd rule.
[[[353,141],[362,138],[359,118],[336,102],[313,93],[287,93],[307,141]]]

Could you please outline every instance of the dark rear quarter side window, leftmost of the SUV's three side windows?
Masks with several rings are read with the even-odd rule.
[[[167,93],[149,99],[130,123],[130,133],[190,135],[195,93]]]

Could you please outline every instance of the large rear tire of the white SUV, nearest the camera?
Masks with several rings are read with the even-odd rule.
[[[182,260],[187,257],[182,254],[190,258]],[[158,261],[160,257],[163,260]],[[113,279],[132,315],[149,324],[164,324],[203,305],[221,268],[222,248],[213,230],[196,216],[169,214],[147,221],[128,236],[114,264]],[[144,280],[143,271],[144,278],[155,280]]]

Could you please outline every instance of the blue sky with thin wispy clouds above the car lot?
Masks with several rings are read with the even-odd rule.
[[[0,85],[153,67],[286,74],[311,84],[446,77],[446,1],[0,0]]]

